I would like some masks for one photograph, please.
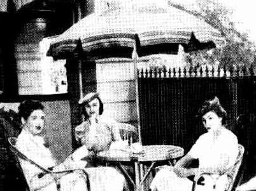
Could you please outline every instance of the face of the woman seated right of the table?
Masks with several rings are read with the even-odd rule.
[[[222,117],[218,117],[218,115],[213,111],[204,114],[202,117],[202,121],[204,127],[208,131],[215,131],[216,129],[222,127]]]

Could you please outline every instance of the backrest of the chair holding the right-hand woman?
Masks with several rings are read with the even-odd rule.
[[[241,177],[238,176],[239,169],[241,167],[241,163],[243,161],[243,154],[245,153],[245,147],[243,145],[238,145],[238,157],[233,168],[227,173],[230,178],[229,187],[227,191],[232,191],[241,181]]]

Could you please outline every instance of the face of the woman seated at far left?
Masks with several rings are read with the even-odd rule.
[[[25,121],[25,126],[33,134],[38,135],[43,130],[43,124],[45,123],[45,114],[43,110],[34,110],[27,121]]]

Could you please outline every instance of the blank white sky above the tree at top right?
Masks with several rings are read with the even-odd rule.
[[[256,1],[255,0],[169,0],[188,8],[195,8],[195,4],[207,3],[215,1],[230,8],[233,13],[232,21],[235,23],[236,29],[243,33],[246,32],[251,41],[256,44]]]

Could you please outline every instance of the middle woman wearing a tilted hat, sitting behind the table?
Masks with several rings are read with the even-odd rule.
[[[85,117],[85,121],[75,128],[79,146],[86,145],[92,156],[96,152],[108,150],[110,146],[127,146],[127,142],[121,139],[117,122],[103,115],[103,102],[98,93],[88,93],[78,103]],[[91,164],[97,166],[96,159]]]

